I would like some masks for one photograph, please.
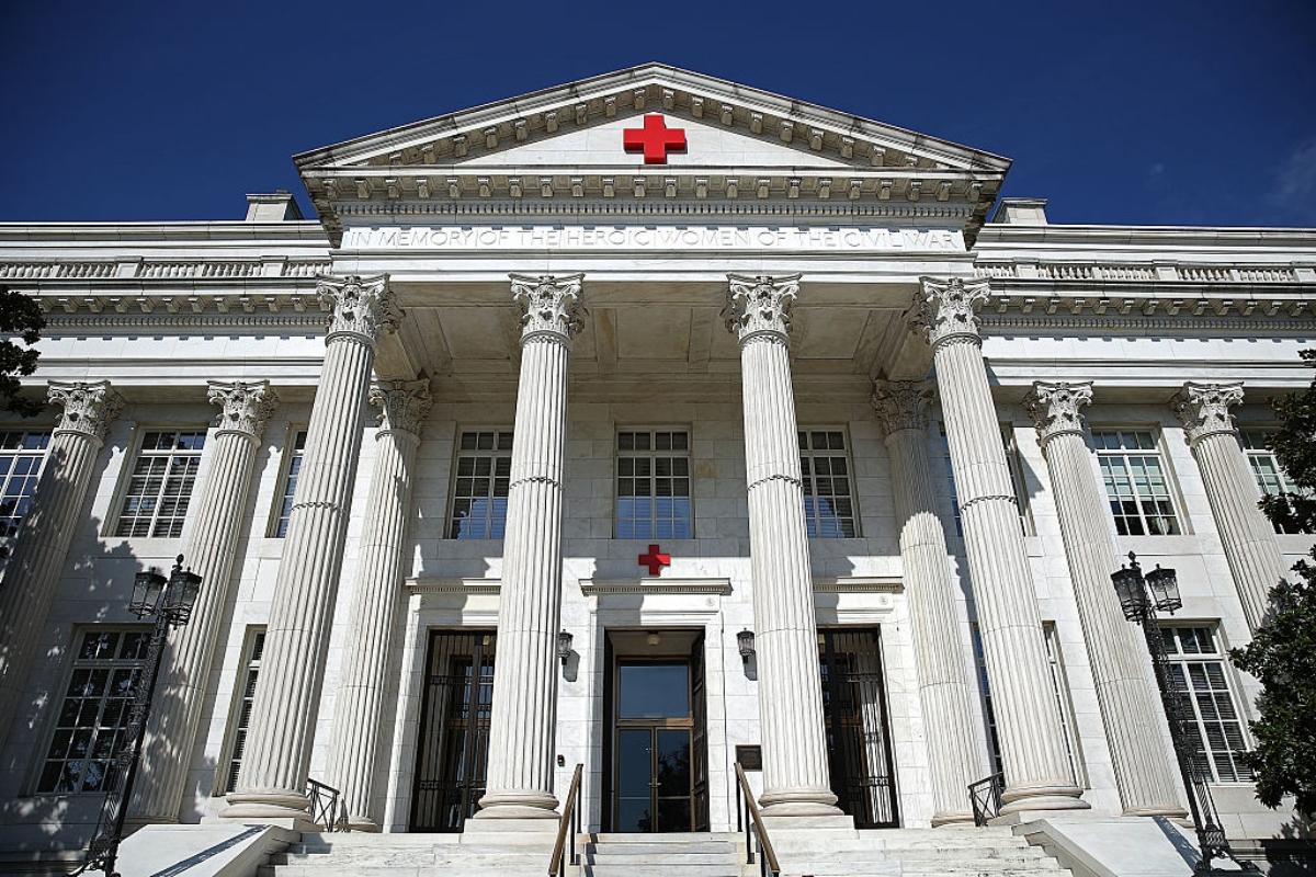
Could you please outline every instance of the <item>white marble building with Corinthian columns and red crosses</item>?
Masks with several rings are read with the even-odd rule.
[[[963,822],[1001,768],[1011,813],[1178,815],[1136,551],[1225,828],[1294,823],[1224,651],[1313,539],[1254,504],[1316,230],[1050,225],[1005,158],[661,64],[296,163],[318,220],[0,225],[51,401],[0,426],[0,863],[86,841],[180,552],[138,820],[316,780],[468,830],[580,764],[592,828],[725,831],[758,753],[783,818]]]

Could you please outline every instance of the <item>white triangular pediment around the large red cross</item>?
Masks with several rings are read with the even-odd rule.
[[[624,149],[646,116],[686,134],[661,163]],[[479,204],[515,212],[626,197],[680,202],[826,201],[941,204],[942,217],[980,225],[1009,159],[894,125],[848,116],[666,64],[642,64],[380,131],[296,156],[330,234],[362,202]],[[459,210],[455,209],[461,202]],[[504,204],[507,202],[507,204]],[[954,205],[951,208],[951,205]],[[703,210],[703,212],[707,212]],[[742,212],[742,210],[737,210]],[[862,210],[861,210],[862,212]],[[829,208],[836,214],[837,208]],[[873,213],[873,210],[869,210]],[[934,213],[926,206],[900,216]]]

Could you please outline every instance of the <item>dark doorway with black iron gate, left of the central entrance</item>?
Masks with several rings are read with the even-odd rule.
[[[479,810],[494,702],[491,630],[429,635],[411,831],[461,831]]]

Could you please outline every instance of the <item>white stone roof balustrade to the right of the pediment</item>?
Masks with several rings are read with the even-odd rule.
[[[1303,283],[1316,281],[1316,267],[1262,264],[1099,264],[1091,262],[992,262],[974,266],[979,277],[1036,280],[1092,280],[1116,283]]]

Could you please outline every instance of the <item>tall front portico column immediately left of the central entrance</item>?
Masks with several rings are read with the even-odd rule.
[[[557,818],[553,730],[562,617],[562,460],[567,360],[584,275],[511,275],[521,310],[512,472],[497,605],[487,792],[478,818]]]

